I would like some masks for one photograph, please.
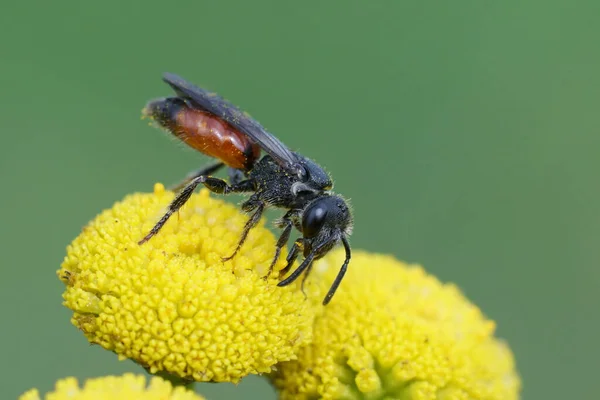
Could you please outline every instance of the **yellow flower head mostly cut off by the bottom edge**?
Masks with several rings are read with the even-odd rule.
[[[170,382],[153,377],[146,387],[143,375],[125,374],[88,379],[80,388],[75,378],[56,382],[53,392],[43,397],[46,400],[202,400],[184,387],[173,388]],[[21,395],[19,400],[41,400],[37,389]]]

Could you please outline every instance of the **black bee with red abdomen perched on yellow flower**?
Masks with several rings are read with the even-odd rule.
[[[340,285],[350,262],[348,237],[352,233],[352,214],[346,201],[331,192],[333,182],[321,166],[293,152],[248,114],[220,96],[166,73],[163,80],[176,96],[150,101],[144,113],[190,147],[218,161],[188,175],[178,186],[179,193],[164,216],[140,240],[143,244],[156,235],[169,217],[190,198],[199,184],[218,194],[248,193],[242,210],[250,217],[246,222],[231,259],[239,251],[250,230],[267,207],[286,210],[277,221],[282,230],[275,247],[269,273],[281,249],[289,241],[293,228],[302,235],[294,241],[287,257],[287,274],[302,252],[304,260],[278,286],[286,286],[303,272],[302,284],[312,263],[338,244],[344,246],[346,258],[329,289],[323,304],[329,303]],[[266,154],[261,158],[261,151]],[[213,174],[227,166],[228,180]]]

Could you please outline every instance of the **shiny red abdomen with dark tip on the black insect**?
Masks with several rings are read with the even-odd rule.
[[[222,119],[196,110],[177,98],[154,100],[144,113],[188,146],[226,165],[249,170],[260,157],[260,147]]]

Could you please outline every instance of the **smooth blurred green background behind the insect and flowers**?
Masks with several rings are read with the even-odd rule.
[[[462,287],[511,344],[524,398],[597,398],[598,15],[597,2],[5,2],[2,398],[140,371],[69,323],[55,271],[100,210],[207,161],[140,121],[170,94],[164,71],[325,165],[352,200],[355,248]],[[259,378],[199,391],[275,398]]]

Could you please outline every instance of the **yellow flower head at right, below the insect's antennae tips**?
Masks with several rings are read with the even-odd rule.
[[[343,257],[334,251],[314,265],[309,299],[326,292]],[[355,252],[315,319],[313,343],[271,378],[282,399],[517,399],[512,354],[493,332],[455,286],[419,266]]]

